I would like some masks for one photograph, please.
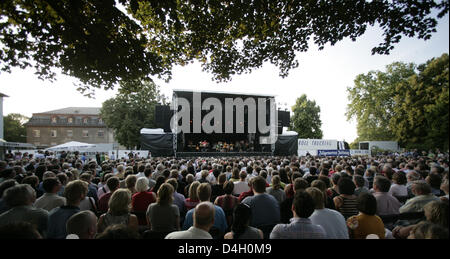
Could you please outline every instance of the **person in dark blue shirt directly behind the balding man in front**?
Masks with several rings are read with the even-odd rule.
[[[209,183],[200,184],[200,186],[197,188],[197,196],[198,196],[200,202],[210,201],[211,185]],[[228,228],[225,213],[223,212],[221,207],[219,207],[217,205],[213,205],[213,206],[214,206],[214,211],[215,211],[213,227],[220,230],[221,234],[223,235],[223,234],[225,234],[225,232]],[[186,213],[186,218],[184,219],[184,223],[183,223],[183,230],[187,230],[188,228],[190,228],[193,225],[193,216],[192,216],[193,213],[194,213],[193,209],[189,210]]]

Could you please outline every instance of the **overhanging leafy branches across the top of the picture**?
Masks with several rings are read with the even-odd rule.
[[[174,65],[193,60],[217,81],[264,62],[285,77],[310,40],[323,49],[377,24],[384,40],[372,54],[388,54],[403,36],[429,39],[448,11],[448,1],[431,0],[7,0],[0,69],[33,66],[42,79],[61,71],[87,94],[121,81],[169,80]]]

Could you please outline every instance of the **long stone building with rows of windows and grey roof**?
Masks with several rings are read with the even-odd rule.
[[[89,144],[117,143],[113,130],[106,127],[99,107],[68,107],[33,113],[25,123],[27,143],[47,148],[69,141]]]

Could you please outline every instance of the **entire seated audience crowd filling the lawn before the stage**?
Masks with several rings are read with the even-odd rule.
[[[0,161],[0,238],[447,239],[448,153]]]

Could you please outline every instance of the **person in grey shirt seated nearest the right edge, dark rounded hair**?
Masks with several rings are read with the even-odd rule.
[[[407,200],[405,205],[400,207],[400,213],[423,211],[425,204],[430,201],[439,200],[438,197],[431,193],[431,187],[425,181],[419,180],[413,182],[411,191],[415,197]]]

